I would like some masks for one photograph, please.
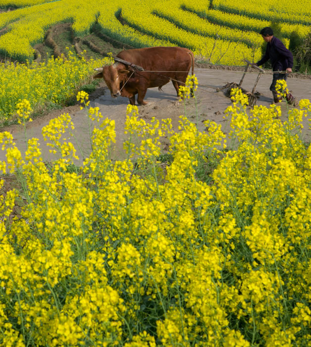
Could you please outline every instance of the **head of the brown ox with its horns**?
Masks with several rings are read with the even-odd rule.
[[[120,89],[126,81],[127,74],[130,72],[125,69],[125,65],[114,63],[109,66],[96,68],[95,70],[100,71],[100,73],[95,75],[94,78],[104,78],[112,98],[121,95]]]

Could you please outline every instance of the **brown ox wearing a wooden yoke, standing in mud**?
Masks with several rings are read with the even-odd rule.
[[[159,87],[170,80],[177,95],[180,85],[185,85],[190,67],[194,70],[193,53],[181,47],[150,47],[120,52],[117,58],[132,64],[142,66],[144,71],[138,71],[129,65],[115,62],[113,65],[97,68],[101,71],[94,78],[104,78],[110,90],[111,97],[118,95],[129,98],[135,105],[135,95],[138,94],[138,104],[146,105],[144,97],[147,88]],[[151,72],[158,71],[158,72]]]

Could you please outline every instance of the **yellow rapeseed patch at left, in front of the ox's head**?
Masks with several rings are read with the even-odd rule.
[[[63,105],[81,85],[92,81],[93,69],[109,64],[110,58],[77,57],[68,50],[68,58],[48,59],[31,64],[0,63],[0,122],[11,120],[16,104],[24,98],[34,111],[49,105]]]

